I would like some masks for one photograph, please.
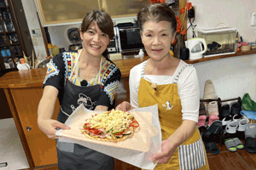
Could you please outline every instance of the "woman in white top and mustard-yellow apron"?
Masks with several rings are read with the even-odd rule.
[[[177,21],[172,9],[154,3],[137,14],[141,37],[150,59],[130,72],[131,104],[122,111],[158,104],[162,143],[152,161],[155,169],[209,169],[207,154],[196,123],[200,92],[195,68],[173,57]]]

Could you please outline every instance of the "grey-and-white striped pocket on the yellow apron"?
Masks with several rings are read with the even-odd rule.
[[[180,170],[194,170],[207,165],[201,139],[193,144],[179,145],[177,149]]]

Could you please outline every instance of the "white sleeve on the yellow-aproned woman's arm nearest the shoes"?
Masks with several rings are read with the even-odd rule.
[[[198,122],[200,90],[194,67],[188,66],[183,70],[177,81],[177,87],[181,99],[183,120]]]

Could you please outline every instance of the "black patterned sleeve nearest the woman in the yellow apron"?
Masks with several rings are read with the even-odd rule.
[[[97,105],[110,106],[113,105],[114,97],[117,89],[119,88],[119,81],[121,78],[121,72],[118,67],[113,69],[110,77],[105,82],[102,90],[102,94],[97,101]]]

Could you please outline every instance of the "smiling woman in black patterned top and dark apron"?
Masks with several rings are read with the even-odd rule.
[[[68,129],[64,122],[79,106],[89,110],[113,108],[119,86],[119,68],[108,59],[108,43],[113,38],[113,21],[104,11],[92,10],[80,27],[83,48],[56,55],[49,63],[44,94],[38,105],[38,127],[50,138],[56,128]],[[55,100],[61,109],[57,121],[51,117]],[[57,141],[59,169],[113,169],[113,158],[79,144]]]

